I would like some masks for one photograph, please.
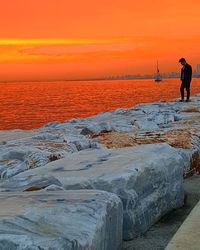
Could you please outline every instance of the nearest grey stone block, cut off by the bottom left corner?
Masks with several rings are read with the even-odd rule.
[[[120,250],[122,204],[95,190],[0,193],[1,250]]]

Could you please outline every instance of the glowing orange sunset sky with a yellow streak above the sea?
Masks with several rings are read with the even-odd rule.
[[[200,63],[199,0],[6,0],[0,81],[179,71]]]

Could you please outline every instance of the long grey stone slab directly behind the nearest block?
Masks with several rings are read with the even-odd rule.
[[[31,190],[33,183],[39,185],[40,178],[53,178],[53,183],[57,180],[67,190],[115,193],[123,202],[123,237],[127,240],[183,204],[183,166],[178,150],[167,144],[86,150],[18,174],[4,181],[0,190]]]

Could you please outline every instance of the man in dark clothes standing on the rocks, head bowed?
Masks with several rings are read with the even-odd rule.
[[[190,83],[192,80],[192,67],[186,62],[185,58],[181,58],[179,62],[183,66],[181,69],[181,82],[182,83],[180,87],[180,92],[181,92],[180,102],[184,101],[184,89],[186,89],[186,92],[187,92],[186,102],[189,102],[190,101]]]

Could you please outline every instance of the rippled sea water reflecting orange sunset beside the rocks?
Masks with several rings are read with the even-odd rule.
[[[179,97],[179,79],[0,84],[0,129],[32,129],[138,103]],[[192,95],[200,92],[193,79]]]

